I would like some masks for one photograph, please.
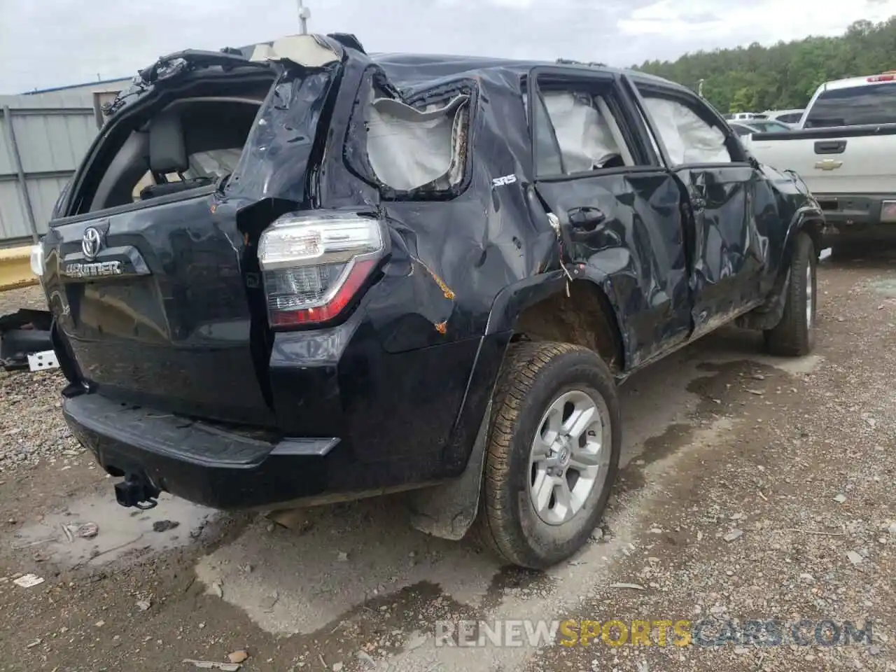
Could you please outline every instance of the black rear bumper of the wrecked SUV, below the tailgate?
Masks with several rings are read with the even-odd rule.
[[[145,478],[216,509],[260,508],[323,493],[340,444],[337,437],[252,438],[99,394],[66,399],[63,410],[73,434],[108,473]]]

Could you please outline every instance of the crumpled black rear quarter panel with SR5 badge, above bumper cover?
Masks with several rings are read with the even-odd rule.
[[[492,74],[495,81],[482,77],[476,82],[468,138],[472,156],[458,193],[381,202],[392,253],[367,300],[376,332],[390,352],[480,338],[498,293],[544,270],[556,254],[547,221],[533,220],[527,204],[524,185],[531,159],[519,77]],[[347,81],[351,76],[347,73]],[[363,79],[358,78],[359,85]],[[363,92],[358,95],[363,99]],[[450,88],[440,95],[451,97]],[[349,150],[359,151],[352,149],[350,133]],[[336,156],[335,150],[327,155]],[[369,198],[370,192],[358,186],[366,183],[349,172],[352,165],[333,160],[323,171],[321,194],[328,206]]]

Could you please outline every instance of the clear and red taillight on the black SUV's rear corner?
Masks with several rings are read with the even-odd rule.
[[[382,256],[379,220],[333,212],[280,217],[258,241],[271,327],[332,320]]]

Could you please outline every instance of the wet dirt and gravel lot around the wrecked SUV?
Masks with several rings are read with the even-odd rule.
[[[0,374],[0,670],[188,671],[237,650],[247,672],[896,670],[894,261],[822,265],[814,356],[731,329],[626,383],[603,534],[546,574],[409,530],[398,500],[293,529],[170,499],[130,513],[68,434],[61,376]],[[614,626],[474,650],[437,646],[439,619],[685,620],[706,639],[613,646]],[[781,644],[726,630],[751,620],[783,624]]]

